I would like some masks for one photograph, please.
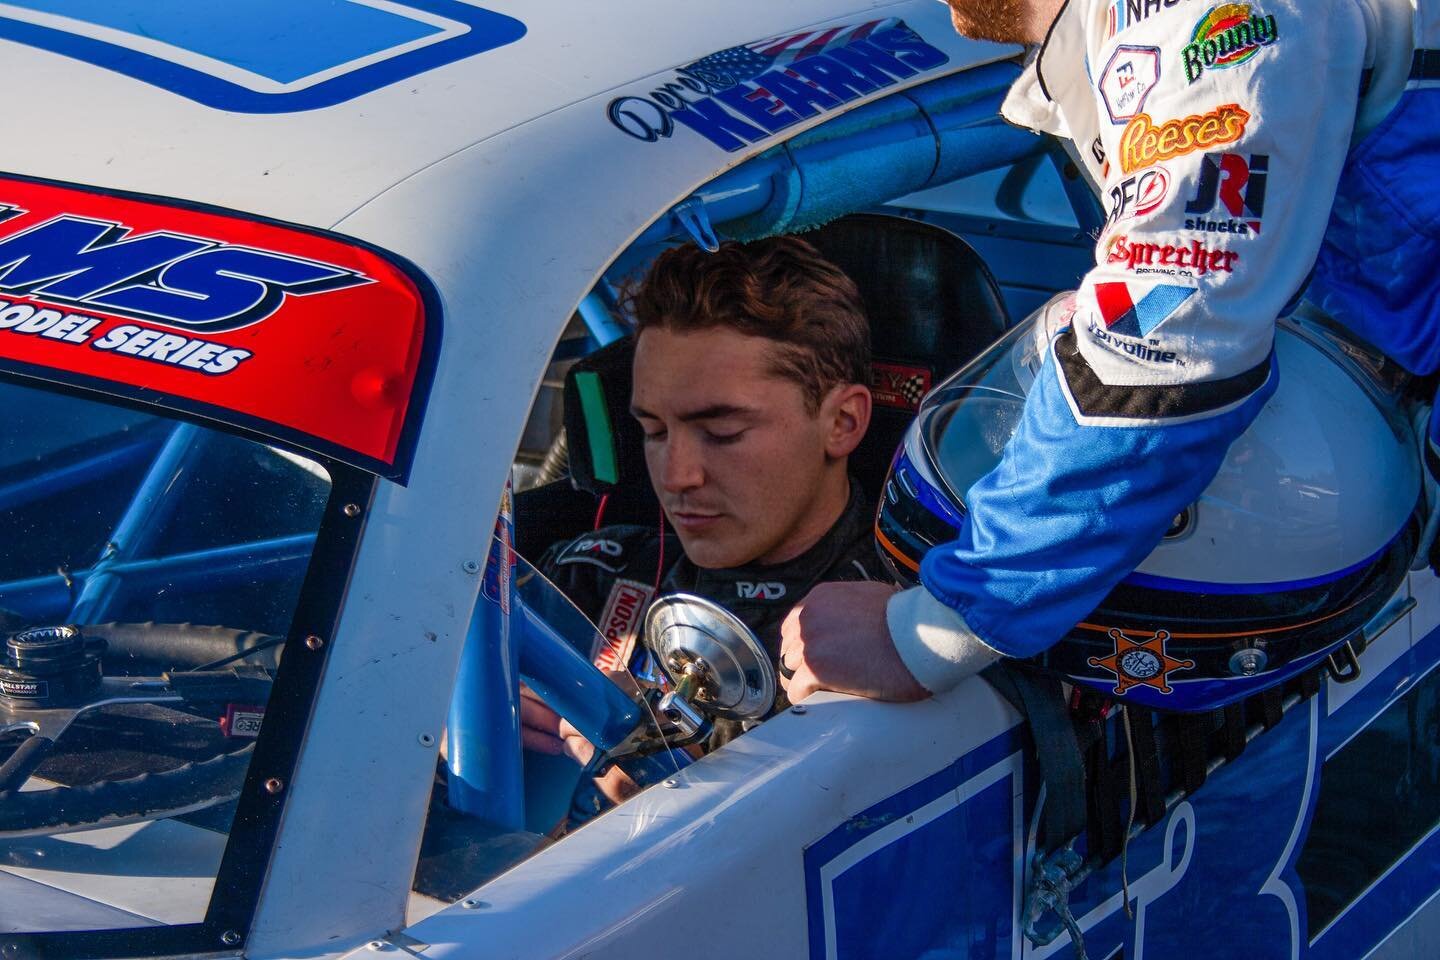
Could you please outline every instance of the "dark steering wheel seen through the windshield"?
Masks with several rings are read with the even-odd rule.
[[[0,838],[179,816],[238,797],[253,743],[122,780],[20,787],[78,718],[102,707],[266,702],[281,642],[190,623],[59,626],[12,635],[0,668],[0,734],[29,737],[0,764]],[[243,665],[230,666],[236,662]],[[114,675],[104,675],[105,666]],[[137,666],[151,672],[121,672]]]

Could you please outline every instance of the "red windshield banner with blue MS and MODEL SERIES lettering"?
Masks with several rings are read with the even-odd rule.
[[[367,245],[0,177],[0,368],[291,440],[403,479],[439,317]]]

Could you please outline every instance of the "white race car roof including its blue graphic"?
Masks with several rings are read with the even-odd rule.
[[[883,0],[12,0],[7,173],[330,227],[464,147]]]

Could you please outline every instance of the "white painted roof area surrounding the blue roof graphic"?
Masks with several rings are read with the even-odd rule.
[[[0,4],[0,17],[33,19],[23,7],[36,6],[53,4],[17,3],[9,12]],[[216,16],[228,6],[213,4]],[[228,112],[105,66],[0,39],[0,85],[12,91],[4,168],[328,227],[405,177],[534,117],[734,45],[894,4],[746,0],[687,10],[665,0],[494,0],[484,7],[518,19],[526,35],[301,112]],[[276,43],[308,42],[284,20],[275,33]],[[215,66],[204,76],[229,75]],[[592,151],[621,147],[609,135],[590,144]],[[497,191],[517,187],[481,183]],[[485,187],[469,187],[478,189]]]

